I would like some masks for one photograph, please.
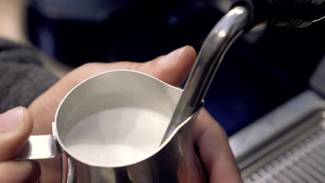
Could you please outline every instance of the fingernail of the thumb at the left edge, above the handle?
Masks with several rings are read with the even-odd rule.
[[[22,123],[23,119],[23,107],[15,107],[0,114],[0,134],[12,132]]]

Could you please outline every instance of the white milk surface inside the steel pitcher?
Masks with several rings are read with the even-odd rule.
[[[119,166],[158,148],[169,123],[166,114],[140,107],[116,107],[85,117],[67,133],[69,152],[87,162]]]

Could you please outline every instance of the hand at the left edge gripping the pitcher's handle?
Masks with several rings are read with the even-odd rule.
[[[0,182],[37,182],[40,166],[34,161],[10,161],[31,134],[33,119],[24,107],[0,114]]]

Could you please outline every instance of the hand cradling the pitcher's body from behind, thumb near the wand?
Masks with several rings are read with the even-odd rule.
[[[33,134],[51,133],[51,122],[60,102],[72,88],[91,76],[104,71],[129,69],[147,73],[170,85],[178,86],[188,76],[195,58],[194,49],[185,46],[145,63],[90,63],[78,67],[36,98],[28,107],[34,117]],[[194,143],[199,147],[203,164],[210,174],[210,182],[240,182],[226,133],[206,110],[201,111],[194,125]]]

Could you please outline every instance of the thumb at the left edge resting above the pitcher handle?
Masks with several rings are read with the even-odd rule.
[[[24,107],[0,114],[0,162],[12,159],[31,134],[33,120]]]

